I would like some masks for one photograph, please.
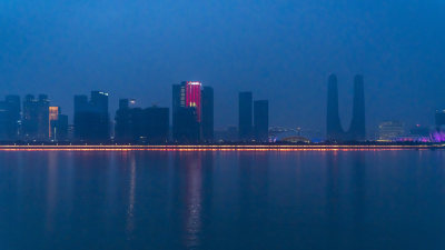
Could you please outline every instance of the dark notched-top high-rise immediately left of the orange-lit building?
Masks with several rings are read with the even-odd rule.
[[[22,128],[24,140],[46,141],[49,139],[49,99],[47,94],[39,94],[39,99],[34,99],[32,94],[26,96]]]

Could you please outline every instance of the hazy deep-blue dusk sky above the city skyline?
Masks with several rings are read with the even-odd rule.
[[[445,108],[443,0],[0,0],[0,96],[106,90],[171,106],[171,84],[215,89],[216,127],[237,124],[238,91],[269,99],[271,126],[324,130],[339,80],[348,127],[365,76],[368,127],[434,122]]]

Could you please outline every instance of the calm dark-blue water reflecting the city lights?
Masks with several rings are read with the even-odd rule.
[[[0,249],[445,249],[444,160],[0,152]]]

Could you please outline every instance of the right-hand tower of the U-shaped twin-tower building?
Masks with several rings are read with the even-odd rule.
[[[354,78],[353,120],[348,131],[348,140],[363,141],[366,139],[365,128],[365,90],[363,76]]]

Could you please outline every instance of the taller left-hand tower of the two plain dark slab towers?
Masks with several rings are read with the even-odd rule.
[[[239,93],[238,132],[239,132],[239,140],[249,141],[253,139],[253,94],[251,94],[251,92],[240,92]]]

